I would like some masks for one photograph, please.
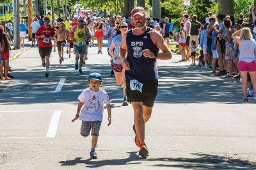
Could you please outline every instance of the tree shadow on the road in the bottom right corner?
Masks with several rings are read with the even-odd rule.
[[[179,169],[256,169],[256,162],[220,157],[218,155],[192,153],[198,158],[148,158],[147,161],[160,161],[156,167],[178,167]],[[170,162],[172,164],[166,164]]]

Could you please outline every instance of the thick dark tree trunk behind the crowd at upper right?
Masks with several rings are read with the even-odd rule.
[[[223,15],[234,16],[234,0],[219,0],[219,12]]]

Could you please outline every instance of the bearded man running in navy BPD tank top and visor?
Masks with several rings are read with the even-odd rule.
[[[120,57],[126,70],[127,98],[134,109],[135,142],[140,147],[139,155],[146,157],[145,123],[152,113],[159,77],[156,59],[170,59],[172,54],[163,36],[156,29],[145,26],[147,16],[144,8],[134,8],[131,15],[135,28],[124,33]]]

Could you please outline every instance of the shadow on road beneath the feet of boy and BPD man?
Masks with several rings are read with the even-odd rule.
[[[128,158],[124,159],[109,159],[109,160],[93,160],[88,158],[86,160],[82,160],[81,157],[77,157],[74,160],[65,160],[59,162],[61,166],[75,166],[77,164],[86,164],[86,167],[102,167],[102,166],[124,166],[128,164],[141,164],[141,162],[133,162],[135,160],[141,160],[141,158],[136,155],[135,151],[127,152],[129,153]]]

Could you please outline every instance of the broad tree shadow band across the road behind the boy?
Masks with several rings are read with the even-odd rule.
[[[26,58],[30,56],[26,56]],[[90,58],[89,58],[90,59]],[[88,87],[88,74],[99,72],[103,77],[102,89],[107,91],[113,104],[122,103],[122,88],[116,85],[115,77],[110,77],[110,66],[105,62],[86,64],[83,75],[74,70],[74,65],[51,65],[50,77],[44,76],[44,68],[18,69],[12,73],[17,80],[28,81],[18,92],[1,98],[5,104],[36,104],[52,102],[77,102],[77,97]],[[239,80],[210,76],[209,70],[195,66],[159,66],[159,88],[156,103],[189,104],[204,102],[221,102],[225,104],[241,104],[241,84]],[[61,93],[54,93],[60,79],[65,78]],[[0,93],[6,88],[0,84]],[[3,95],[1,95],[3,96]],[[22,100],[21,100],[22,98]],[[251,102],[251,101],[250,101]]]

